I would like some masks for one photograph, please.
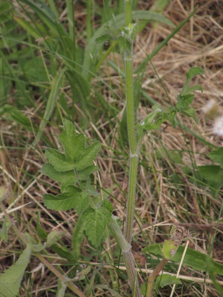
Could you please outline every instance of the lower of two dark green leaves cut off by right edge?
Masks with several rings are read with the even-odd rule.
[[[198,166],[198,170],[207,181],[223,181],[223,169],[219,165]]]

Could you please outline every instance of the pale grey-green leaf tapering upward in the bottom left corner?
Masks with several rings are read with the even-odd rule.
[[[19,294],[20,284],[31,256],[29,245],[23,250],[18,260],[0,275],[1,296],[15,297]]]

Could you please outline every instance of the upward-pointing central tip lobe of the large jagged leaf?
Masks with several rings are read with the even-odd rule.
[[[58,140],[63,146],[67,161],[71,164],[74,164],[85,152],[83,133],[77,135],[75,126],[66,119],[63,119],[63,131],[58,136]]]

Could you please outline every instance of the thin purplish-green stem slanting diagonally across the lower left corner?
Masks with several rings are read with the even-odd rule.
[[[18,228],[15,226],[15,224],[13,223],[13,221],[11,220],[11,217],[8,215],[4,205],[2,202],[0,202],[0,208],[2,209],[4,215],[6,216],[6,218],[8,219],[8,221],[12,224],[12,227],[15,231],[15,233],[17,234],[17,236],[22,240],[22,242],[27,245],[28,241],[25,238],[25,236],[18,230]],[[86,297],[75,285],[73,285],[70,282],[67,282],[67,278],[64,277],[61,273],[59,273],[59,271],[53,266],[51,265],[50,262],[48,262],[39,252],[32,252],[42,263],[44,263],[44,265],[50,269],[51,272],[53,272],[62,282],[67,284],[67,287],[72,290],[77,296],[79,297]]]

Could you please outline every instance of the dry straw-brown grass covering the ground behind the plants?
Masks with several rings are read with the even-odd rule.
[[[139,1],[138,8],[148,9],[152,2]],[[192,1],[187,0],[170,1],[164,14],[177,25],[188,15],[191,10],[191,3]],[[199,8],[193,19],[184,25],[168,42],[167,46],[160,50],[152,59],[152,63],[162,79],[172,104],[176,103],[176,95],[180,93],[185,82],[186,71],[192,66],[200,66],[205,70],[203,77],[195,79],[195,83],[201,84],[204,89],[203,94],[196,92],[193,102],[199,123],[196,125],[193,120],[185,118],[180,119],[180,121],[201,136],[207,143],[221,147],[223,146],[223,138],[213,135],[213,121],[204,117],[202,107],[210,99],[216,99],[219,106],[223,106],[223,2],[220,0],[195,0],[194,6],[196,5],[199,5]],[[76,11],[80,16],[76,20],[78,26],[80,26],[81,21],[85,21],[85,15],[81,14],[81,11],[85,11],[84,9],[83,6],[80,6],[80,10]],[[140,65],[146,55],[150,54],[170,32],[171,29],[162,24],[158,28],[154,28],[153,25],[147,25],[136,38],[134,67],[136,68]],[[109,59],[114,59],[122,67],[118,54],[112,53]],[[122,79],[119,78],[118,74],[111,67],[108,67],[106,63],[101,67],[100,72],[101,77],[105,81],[111,81],[115,91],[124,98],[124,89],[122,84],[120,84]],[[146,66],[142,88],[163,106],[168,103],[166,93],[150,64]],[[108,102],[111,103],[111,92],[105,89],[102,92],[104,92],[104,97],[108,99]],[[121,120],[123,116],[123,102],[116,101],[115,104],[120,110],[118,117]],[[151,105],[147,102],[145,106],[145,100],[141,98],[138,118],[143,118],[147,114],[147,110],[151,110]],[[98,134],[102,144],[107,146],[107,139],[109,139],[109,147],[119,150],[119,134],[116,129],[111,130],[111,126],[107,122],[108,119],[104,120],[103,116],[97,125],[91,123],[89,124],[89,129],[83,132],[88,137],[92,137],[92,131],[94,131]],[[111,119],[111,121],[113,120]],[[79,127],[78,123],[75,124]],[[54,141],[59,146],[56,140],[59,129],[56,127],[49,129],[51,129],[51,135],[55,135]],[[81,130],[79,129],[79,131]],[[47,210],[43,205],[42,196],[44,193],[47,193],[49,189],[52,193],[53,191],[55,194],[58,192],[57,183],[53,183],[49,178],[38,173],[43,162],[46,161],[43,155],[44,148],[39,149],[37,146],[36,148],[31,148],[27,140],[30,140],[31,143],[31,140],[33,140],[32,133],[27,135],[27,132],[22,130],[21,127],[15,124],[11,125],[2,120],[0,137],[0,182],[9,189],[10,194],[4,203],[13,217],[13,221],[22,233],[31,234],[32,237],[38,240],[35,230],[37,211],[40,211],[41,224],[48,232],[52,230],[68,231],[62,241],[66,247],[70,248],[72,230],[77,222],[77,215],[74,211],[67,211],[66,213],[62,211],[53,212]],[[212,149],[201,143],[198,138],[190,133],[186,131],[182,133],[179,127],[175,130],[169,123],[164,124],[163,129],[155,136],[148,135],[142,145],[142,164],[139,166],[138,191],[136,194],[136,210],[142,222],[141,228],[143,231],[147,230],[149,232],[150,238],[154,243],[160,243],[167,238],[165,234],[168,234],[169,226],[177,223],[190,230],[192,238],[189,247],[207,254],[213,240],[223,200],[222,192],[218,195],[218,198],[212,198],[207,187],[201,187],[200,184],[196,185],[183,173],[182,166],[175,164],[166,155],[163,161],[159,160],[155,151],[159,151],[162,145],[167,151],[182,151],[183,162],[190,168],[195,166],[192,163],[196,163],[196,165],[211,163],[206,155]],[[189,153],[188,151],[195,153]],[[128,153],[127,147],[125,153]],[[103,153],[97,159],[97,164],[101,168],[99,175],[102,187],[105,189],[110,188],[112,195],[122,203],[124,203],[124,195],[114,181],[126,193],[126,160],[127,158],[123,157],[123,155],[114,153],[107,148],[103,148]],[[144,166],[145,164],[146,166]],[[179,184],[174,184],[171,178],[176,173],[182,176]],[[98,181],[97,175],[95,176],[95,181]],[[124,217],[123,206],[113,198],[111,198],[111,201],[114,205],[114,213],[122,219]],[[0,213],[0,220],[3,222],[2,213]],[[145,243],[137,224],[134,226],[134,239],[133,249],[135,252],[140,252],[142,247],[145,247]],[[211,251],[212,257],[219,263],[223,263],[222,242],[223,222],[221,219],[215,244]],[[114,249],[114,246],[115,242],[111,238],[111,250]],[[86,257],[88,256],[88,247],[88,241],[84,239],[81,252]],[[10,229],[8,243],[0,241],[1,272],[13,263],[22,248],[24,247],[21,246],[20,241],[17,237],[14,237],[14,233]],[[46,257],[52,264],[60,265],[60,269],[64,273],[68,272],[67,266],[62,266],[61,259],[56,257],[52,251],[46,254]],[[143,262],[144,260],[142,258]],[[97,255],[94,257],[94,261],[95,263],[100,263]],[[109,278],[109,270],[105,269],[101,277],[111,287],[111,282],[105,277],[107,275]],[[27,273],[26,278],[22,281],[22,286],[30,293],[25,293],[23,290],[21,291],[21,296],[55,296],[53,293],[47,293],[47,291],[49,288],[55,288],[57,285],[56,277],[41,265],[35,257],[32,257],[28,270],[30,272]],[[193,271],[189,267],[182,267],[180,274],[188,277],[204,278],[204,273]],[[31,291],[30,288],[32,288]],[[128,290],[127,285],[124,285],[122,280],[120,280],[120,288],[124,292]],[[202,282],[196,282],[196,280],[195,282],[184,283],[183,288],[182,296],[220,296],[210,283],[205,284],[204,294],[201,293],[203,290]],[[162,296],[168,296],[168,292],[163,290]],[[181,288],[178,288],[176,292],[178,295],[175,294],[174,296],[181,296]],[[101,291],[97,292],[96,290],[95,293],[96,295],[102,294]]]

